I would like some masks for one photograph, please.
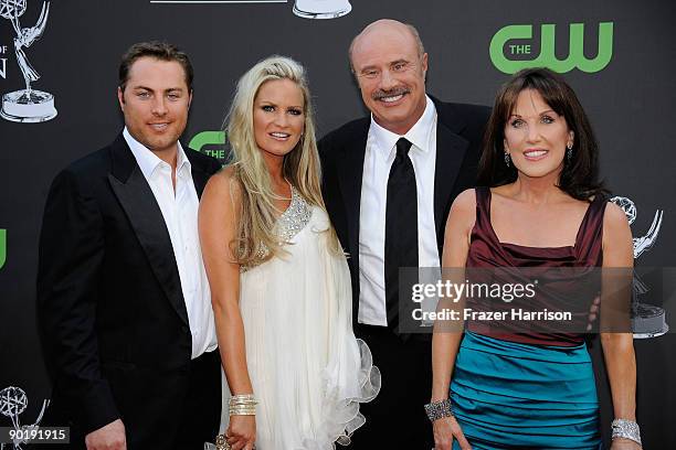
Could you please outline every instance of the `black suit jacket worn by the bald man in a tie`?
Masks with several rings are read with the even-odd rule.
[[[451,204],[462,191],[474,188],[482,139],[490,109],[485,106],[442,103],[436,107],[436,165],[434,171],[434,223],[439,255]],[[361,179],[370,117],[353,120],[319,141],[321,190],[338,238],[349,254],[352,279],[352,314],[359,309],[359,214]],[[383,193],[384,202],[384,193]]]

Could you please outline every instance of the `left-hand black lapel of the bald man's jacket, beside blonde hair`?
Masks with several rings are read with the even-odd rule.
[[[368,137],[369,125],[360,130],[356,139],[352,140],[353,146],[342,149],[342,158],[340,158],[338,173],[340,192],[345,201],[345,210],[347,214],[348,236],[349,236],[349,253],[356,266],[359,267],[359,215],[361,211],[361,181],[363,178],[363,158],[366,154],[366,144]]]

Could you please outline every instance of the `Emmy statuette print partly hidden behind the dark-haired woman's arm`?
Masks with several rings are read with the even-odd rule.
[[[611,202],[624,211],[626,218],[632,225],[636,219],[636,205],[627,197],[614,196]],[[649,250],[657,240],[659,227],[662,226],[663,212],[657,210],[653,217],[653,224],[645,236],[634,237],[634,260]],[[666,323],[666,313],[664,308],[638,301],[638,297],[647,293],[649,288],[634,271],[634,292],[632,296],[632,331],[634,339],[657,338],[669,331],[669,325]]]

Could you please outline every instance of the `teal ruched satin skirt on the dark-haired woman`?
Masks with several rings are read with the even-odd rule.
[[[466,332],[453,413],[474,450],[601,447],[599,398],[587,345],[519,344]],[[460,449],[454,442],[454,449]]]

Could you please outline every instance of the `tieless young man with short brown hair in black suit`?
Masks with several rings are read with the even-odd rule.
[[[197,212],[220,164],[178,141],[192,77],[173,45],[133,45],[119,67],[124,131],[49,193],[38,314],[49,421],[71,427],[71,448],[200,449],[218,432],[220,358]]]

